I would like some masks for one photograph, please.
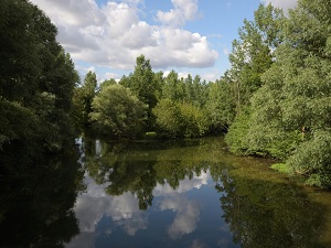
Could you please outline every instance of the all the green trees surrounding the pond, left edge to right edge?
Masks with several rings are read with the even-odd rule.
[[[119,82],[83,82],[56,26],[26,0],[0,2],[0,149],[57,152],[84,133],[108,139],[226,133],[237,154],[331,187],[331,1],[299,0],[288,13],[260,4],[233,41],[216,82],[153,72],[137,57]],[[42,144],[42,145],[41,145]]]

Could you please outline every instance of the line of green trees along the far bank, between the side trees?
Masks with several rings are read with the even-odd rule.
[[[86,74],[74,94],[77,128],[113,139],[193,138],[222,131],[225,121],[220,126],[217,117],[212,121],[209,115],[218,107],[213,105],[217,88],[199,75],[154,73],[141,55],[135,71],[118,83],[98,85],[95,73]]]

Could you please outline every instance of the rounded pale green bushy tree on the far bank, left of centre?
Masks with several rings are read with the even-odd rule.
[[[135,139],[145,128],[147,106],[121,85],[103,88],[92,108],[94,129],[105,137]]]

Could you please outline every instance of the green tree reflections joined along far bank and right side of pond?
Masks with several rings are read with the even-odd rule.
[[[331,247],[323,238],[330,234],[329,193],[307,190],[295,179],[269,170],[273,161],[233,157],[222,139],[86,143],[85,169],[89,176],[105,185],[109,196],[131,193],[141,211],[153,207],[154,191],[160,185],[177,191],[184,180],[210,172],[222,211],[214,218],[224,219],[233,237],[233,245],[224,247]],[[151,235],[149,239],[152,238]]]

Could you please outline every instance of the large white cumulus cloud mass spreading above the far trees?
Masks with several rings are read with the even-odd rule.
[[[96,66],[132,69],[145,54],[154,68],[210,67],[218,54],[206,36],[182,26],[197,17],[196,0],[172,0],[168,12],[157,12],[160,25],[139,18],[141,0],[32,0],[58,28],[58,42],[75,61]]]

